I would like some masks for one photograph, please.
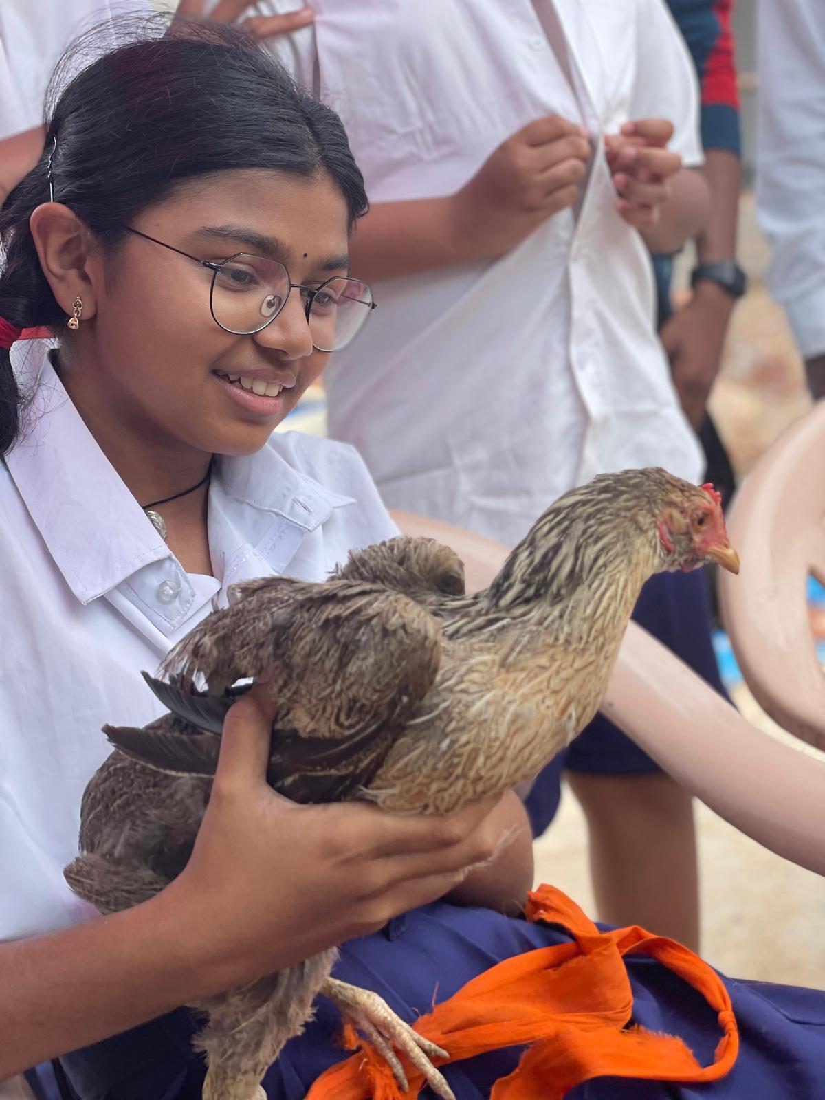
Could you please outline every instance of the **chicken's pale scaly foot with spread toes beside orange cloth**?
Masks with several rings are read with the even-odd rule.
[[[321,993],[329,998],[333,1004],[337,1004],[341,1014],[373,1043],[393,1070],[393,1076],[402,1091],[406,1092],[409,1086],[393,1046],[403,1050],[413,1065],[424,1074],[436,1096],[441,1097],[442,1100],[455,1100],[455,1093],[430,1060],[431,1058],[448,1058],[447,1050],[442,1050],[440,1046],[431,1043],[424,1035],[419,1035],[415,1028],[396,1015],[377,993],[370,989],[350,986],[337,978],[328,978]]]

